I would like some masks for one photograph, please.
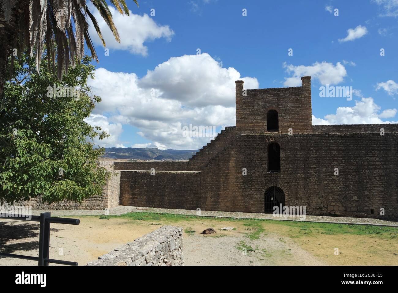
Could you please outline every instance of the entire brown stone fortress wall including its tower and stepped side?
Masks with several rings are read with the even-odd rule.
[[[278,132],[267,132],[269,110],[278,112]],[[398,124],[312,125],[311,115],[310,77],[302,77],[301,87],[246,91],[236,81],[236,126],[189,161],[114,163],[120,176],[80,208],[119,202],[259,213],[265,212],[265,190],[279,187],[285,205],[306,206],[307,215],[398,220]],[[280,147],[277,173],[268,171],[271,143]]]

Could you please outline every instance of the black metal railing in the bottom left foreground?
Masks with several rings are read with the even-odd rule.
[[[0,219],[40,222],[39,257],[22,256],[20,254],[9,254],[2,252],[0,252],[0,257],[21,258],[23,260],[36,260],[38,261],[39,265],[49,265],[49,263],[61,264],[61,265],[78,265],[77,262],[68,262],[66,260],[53,260],[49,258],[49,254],[50,254],[50,223],[78,225],[80,224],[79,219],[52,217],[51,213],[49,212],[43,212],[40,214],[40,216],[1,216]]]

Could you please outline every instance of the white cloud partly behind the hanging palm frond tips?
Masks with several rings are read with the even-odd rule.
[[[160,26],[156,24],[148,14],[140,16],[138,14],[133,14],[131,10],[129,10],[130,16],[121,15],[115,8],[109,6],[109,10],[113,16],[113,22],[120,36],[120,43],[118,43],[111,30],[100,16],[98,10],[93,9],[94,6],[92,5],[90,7],[90,10],[101,28],[102,36],[105,39],[108,49],[128,50],[133,54],[146,56],[148,55],[148,47],[144,45],[144,42],[159,38],[165,38],[167,41],[170,41],[171,37],[174,35],[174,31],[170,29],[169,26]],[[89,26],[89,33],[94,44],[102,45],[100,37],[98,37],[94,26],[91,24]]]

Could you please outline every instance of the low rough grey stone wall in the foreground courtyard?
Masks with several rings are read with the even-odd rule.
[[[87,265],[182,265],[182,228],[162,226]]]

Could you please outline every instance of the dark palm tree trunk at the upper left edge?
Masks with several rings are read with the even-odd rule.
[[[6,76],[8,57],[11,56],[18,40],[20,16],[29,6],[25,0],[16,0],[16,2],[9,23],[5,20],[4,11],[0,11],[0,98],[3,97],[4,83],[9,78]]]

